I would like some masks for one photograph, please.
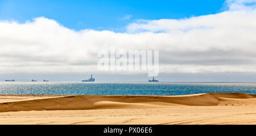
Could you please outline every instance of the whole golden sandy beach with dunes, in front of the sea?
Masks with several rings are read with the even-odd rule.
[[[256,95],[0,95],[0,124],[256,124]]]

